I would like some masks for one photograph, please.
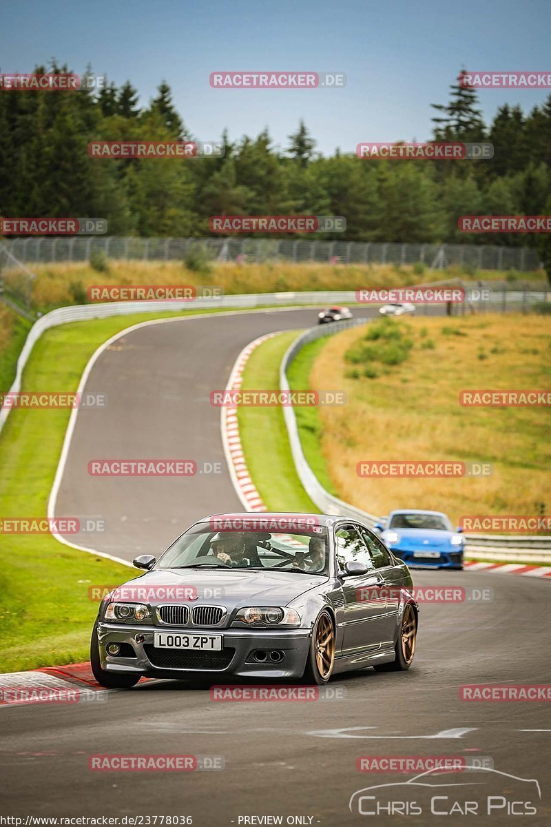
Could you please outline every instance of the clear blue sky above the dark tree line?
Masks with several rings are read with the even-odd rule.
[[[188,132],[231,141],[264,128],[275,146],[302,118],[316,150],[424,141],[430,103],[460,69],[551,69],[550,0],[0,0],[0,71],[55,57],[127,79],[146,105],[166,80]],[[215,89],[213,71],[333,71],[345,88]],[[488,121],[503,103],[529,112],[551,90],[480,90]]]

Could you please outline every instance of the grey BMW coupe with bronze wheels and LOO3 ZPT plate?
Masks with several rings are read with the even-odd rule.
[[[140,677],[301,679],[406,670],[419,607],[406,564],[357,520],[217,514],[108,594],[91,662],[102,686]]]

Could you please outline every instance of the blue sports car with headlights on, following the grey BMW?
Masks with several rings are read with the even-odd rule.
[[[463,568],[464,538],[441,511],[392,511],[375,526],[395,557],[414,568]]]

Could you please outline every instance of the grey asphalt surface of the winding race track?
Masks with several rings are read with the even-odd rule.
[[[224,463],[220,412],[208,404],[210,390],[226,386],[235,357],[254,337],[304,327],[311,318],[311,310],[204,318],[145,327],[117,342],[90,375],[87,390],[106,392],[109,404],[99,415],[78,416],[57,513],[103,514],[109,530],[94,535],[94,547],[132,557],[158,551],[202,514],[240,510],[226,472],[183,480],[181,487],[171,488],[172,480],[143,487],[128,480],[126,486],[116,478],[115,485],[89,478],[86,462],[99,455]],[[119,513],[126,520],[117,519]],[[358,772],[357,759],[445,755],[490,758],[497,771],[537,779],[541,801],[525,782],[494,773],[475,778],[487,781],[491,795],[532,801],[537,815],[444,817],[423,810],[409,823],[549,824],[549,704],[458,696],[464,684],[549,682],[549,583],[472,571],[417,571],[414,580],[486,590],[487,599],[422,605],[411,670],[338,676],[330,683],[335,700],[221,703],[211,700],[208,686],[149,681],[102,693],[102,703],[0,708],[0,815],[22,815],[23,824],[26,815],[118,816],[118,824],[123,816],[190,815],[193,825],[222,827],[263,823],[246,822],[247,816],[281,815],[283,824],[300,816],[306,825],[397,825],[406,816],[359,815],[349,810],[349,798],[411,774]],[[106,753],[207,756],[222,759],[224,769],[90,771],[88,757]],[[461,781],[454,774],[453,783]],[[446,790],[449,798],[439,807],[464,801],[457,789]]]

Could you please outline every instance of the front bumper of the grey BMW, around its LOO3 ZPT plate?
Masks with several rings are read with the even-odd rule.
[[[163,627],[164,632],[181,634],[185,629]],[[186,677],[215,673],[249,678],[300,678],[306,668],[311,643],[309,629],[189,629],[193,634],[221,634],[221,652],[193,652],[182,649],[154,648],[154,633],[159,628],[142,624],[97,623],[97,639],[102,669],[106,672],[140,672],[148,677]],[[143,641],[136,641],[143,635]],[[108,643],[126,643],[135,657],[108,655]],[[126,648],[126,653],[130,650]],[[257,662],[254,653],[268,653],[265,662]],[[273,662],[269,653],[279,653]]]

